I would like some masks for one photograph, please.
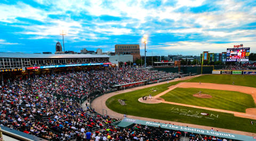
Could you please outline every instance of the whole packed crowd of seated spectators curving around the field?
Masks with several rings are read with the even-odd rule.
[[[142,125],[119,128],[113,123],[120,119],[96,114],[87,103],[83,109],[72,98],[53,95],[79,97],[92,90],[108,91],[113,84],[176,75],[179,74],[137,68],[106,68],[13,80],[0,86],[0,125],[48,140],[179,140],[180,131]]]

